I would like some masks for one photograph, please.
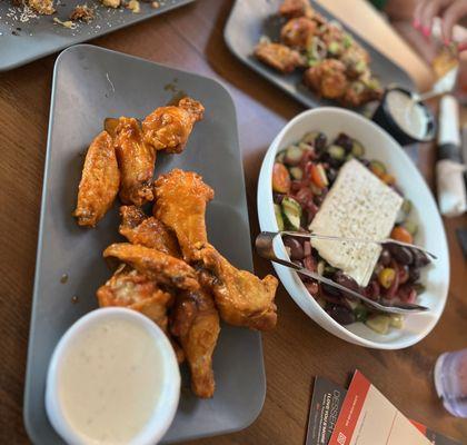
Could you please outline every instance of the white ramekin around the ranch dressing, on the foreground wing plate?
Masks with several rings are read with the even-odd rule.
[[[58,392],[58,379],[62,364],[63,353],[70,344],[86,330],[110,319],[126,319],[143,327],[153,338],[153,344],[162,357],[161,375],[163,376],[162,390],[157,399],[153,412],[141,432],[129,442],[129,445],[157,444],[166,434],[177,412],[180,397],[180,372],[173,348],[163,332],[148,317],[130,309],[108,307],[92,310],[76,322],[61,337],[49,364],[46,387],[46,409],[50,423],[57,433],[72,445],[88,444],[89,437],[83,436],[72,427],[64,416]],[[122,382],[125,384],[125,382]],[[101,443],[101,442],[99,442]]]

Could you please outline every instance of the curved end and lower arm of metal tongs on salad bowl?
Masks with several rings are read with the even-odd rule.
[[[274,250],[274,239],[277,236],[280,235],[287,235],[290,233],[287,231],[276,231],[276,233],[271,233],[271,231],[262,231],[260,233],[257,238],[256,238],[256,251],[258,253],[258,255],[262,258],[269,259],[274,263],[278,263],[282,266],[289,267],[291,269],[294,269],[295,271],[297,271],[298,274],[305,275],[307,277],[314,278],[317,281],[324,283],[326,285],[332,286],[341,291],[344,291],[345,294],[348,294],[355,298],[358,298],[361,301],[365,301],[368,306],[374,307],[375,309],[381,312],[381,313],[388,313],[388,314],[416,314],[416,313],[423,313],[426,310],[429,310],[428,307],[426,306],[420,306],[420,305],[416,305],[413,303],[393,303],[393,301],[387,301],[387,304],[380,304],[377,301],[374,301],[372,299],[355,291],[351,290],[342,285],[339,285],[336,281],[332,281],[329,278],[324,277],[322,275],[319,275],[315,271],[308,270],[301,266],[296,265],[295,263],[288,261],[286,259],[281,259],[278,258],[276,256],[276,253]],[[292,233],[296,234],[296,233]]]

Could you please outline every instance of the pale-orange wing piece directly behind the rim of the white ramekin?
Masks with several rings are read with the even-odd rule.
[[[100,307],[121,306],[138,310],[168,332],[167,307],[172,296],[138,270],[121,266],[97,291]]]

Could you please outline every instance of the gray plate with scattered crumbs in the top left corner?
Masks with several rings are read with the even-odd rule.
[[[53,18],[68,20],[73,8],[86,3],[85,0],[61,0],[53,16],[39,16],[27,22],[20,20],[20,9],[12,8],[11,0],[0,0],[0,71],[20,67],[71,44],[95,39],[192,1],[160,0],[160,7],[157,9],[150,3],[140,1],[140,13],[132,13],[123,8],[105,8],[99,4],[92,22],[79,23],[77,29],[71,30],[53,23]],[[97,4],[98,1],[88,3]],[[16,34],[12,33],[13,31]]]

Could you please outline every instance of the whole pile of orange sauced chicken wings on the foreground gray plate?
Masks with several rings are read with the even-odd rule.
[[[212,397],[220,319],[272,329],[278,281],[237,269],[209,243],[205,214],[215,194],[201,176],[173,169],[152,179],[157,152],[183,151],[202,116],[200,102],[183,98],[142,122],[107,119],[88,149],[73,215],[80,226],[93,227],[119,196],[119,231],[128,243],[103,251],[115,273],[97,291],[99,305],[151,318],[169,337],[179,363],[188,363],[192,392]],[[148,202],[152,215],[142,208]]]

